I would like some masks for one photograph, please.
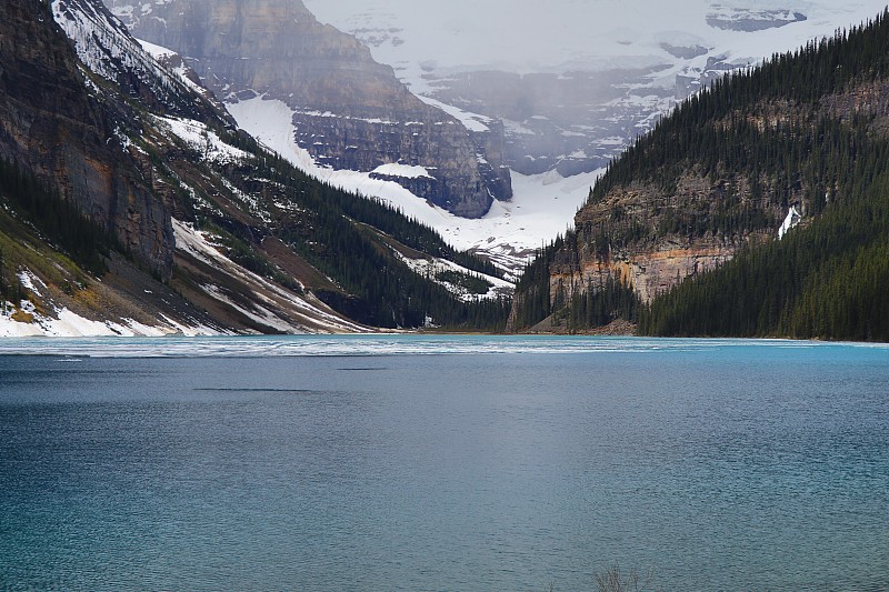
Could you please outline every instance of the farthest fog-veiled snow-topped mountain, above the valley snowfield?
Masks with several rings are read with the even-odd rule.
[[[872,17],[876,0],[304,0],[417,94],[501,120],[505,162],[603,168],[701,87]],[[581,201],[583,195],[580,195]]]

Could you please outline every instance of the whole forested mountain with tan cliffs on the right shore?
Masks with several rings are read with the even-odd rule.
[[[883,13],[686,101],[529,267],[513,327],[889,339],[887,47]]]

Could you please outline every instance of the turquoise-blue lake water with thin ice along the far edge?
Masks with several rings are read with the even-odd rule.
[[[889,590],[889,349],[0,342],[2,590]]]

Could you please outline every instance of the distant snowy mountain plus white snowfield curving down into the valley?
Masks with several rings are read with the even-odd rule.
[[[107,1],[144,30],[167,27],[170,0]],[[428,104],[477,133],[502,133],[512,200],[495,201],[482,218],[466,220],[417,199],[414,185],[424,182],[423,174],[396,183],[376,168],[326,167],[307,146],[299,120],[281,136],[289,129],[280,109],[286,97],[230,101],[239,126],[303,170],[389,201],[456,247],[512,269],[565,230],[597,171],[677,101],[728,70],[831,34],[882,8],[871,0],[303,3],[321,22],[363,41],[376,61],[393,67]]]

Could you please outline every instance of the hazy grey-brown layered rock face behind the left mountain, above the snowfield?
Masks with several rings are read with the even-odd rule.
[[[467,218],[511,198],[500,138],[473,139],[377,63],[354,37],[299,0],[107,0],[133,33],[176,50],[226,101],[256,94],[293,109],[298,143],[322,164],[372,171],[397,162],[433,177],[421,197]],[[497,129],[490,134],[496,134]],[[402,182],[403,181],[403,182]],[[417,190],[414,180],[399,180]]]

